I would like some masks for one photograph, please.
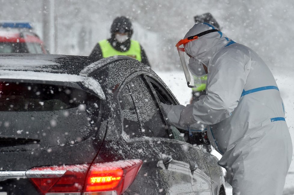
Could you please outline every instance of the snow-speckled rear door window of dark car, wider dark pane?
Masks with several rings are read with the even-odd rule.
[[[170,138],[168,126],[147,81],[138,75],[128,86],[137,108],[141,129],[146,136]]]

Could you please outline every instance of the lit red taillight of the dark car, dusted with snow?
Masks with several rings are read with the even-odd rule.
[[[134,181],[141,160],[123,160],[89,165],[37,167],[26,172],[42,194],[96,194],[112,191],[122,194]],[[87,176],[87,177],[86,177]],[[102,193],[103,194],[103,193]]]

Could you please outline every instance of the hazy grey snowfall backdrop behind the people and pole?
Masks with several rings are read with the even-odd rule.
[[[1,21],[30,21],[42,37],[41,0],[0,0],[0,7]],[[124,15],[153,68],[172,70],[179,63],[175,42],[194,25],[196,14],[210,12],[222,32],[254,49],[269,66],[292,67],[293,10],[293,0],[55,0],[57,53],[89,55],[109,37],[112,20]]]

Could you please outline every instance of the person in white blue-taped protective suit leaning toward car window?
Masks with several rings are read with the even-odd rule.
[[[292,141],[280,91],[265,62],[208,23],[195,24],[176,46],[188,86],[193,87],[191,74],[207,73],[207,93],[187,106],[162,104],[170,123],[208,129],[234,195],[282,194]],[[183,54],[191,57],[188,64]]]

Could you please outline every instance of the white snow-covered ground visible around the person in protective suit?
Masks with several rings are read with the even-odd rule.
[[[278,88],[280,89],[281,96],[285,104],[286,122],[289,127],[289,131],[292,137],[292,143],[294,143],[294,69],[284,67],[274,67],[271,71],[276,79]],[[167,84],[176,98],[181,104],[189,104],[191,98],[191,89],[186,85],[185,76],[182,71],[174,72],[159,72],[155,71],[161,79]],[[294,150],[294,146],[293,146]],[[221,158],[221,155],[215,150],[213,155]],[[294,195],[294,156],[292,157],[292,164],[286,176],[286,184],[284,187],[283,195]],[[229,184],[226,186],[226,193],[232,194],[232,188]]]

